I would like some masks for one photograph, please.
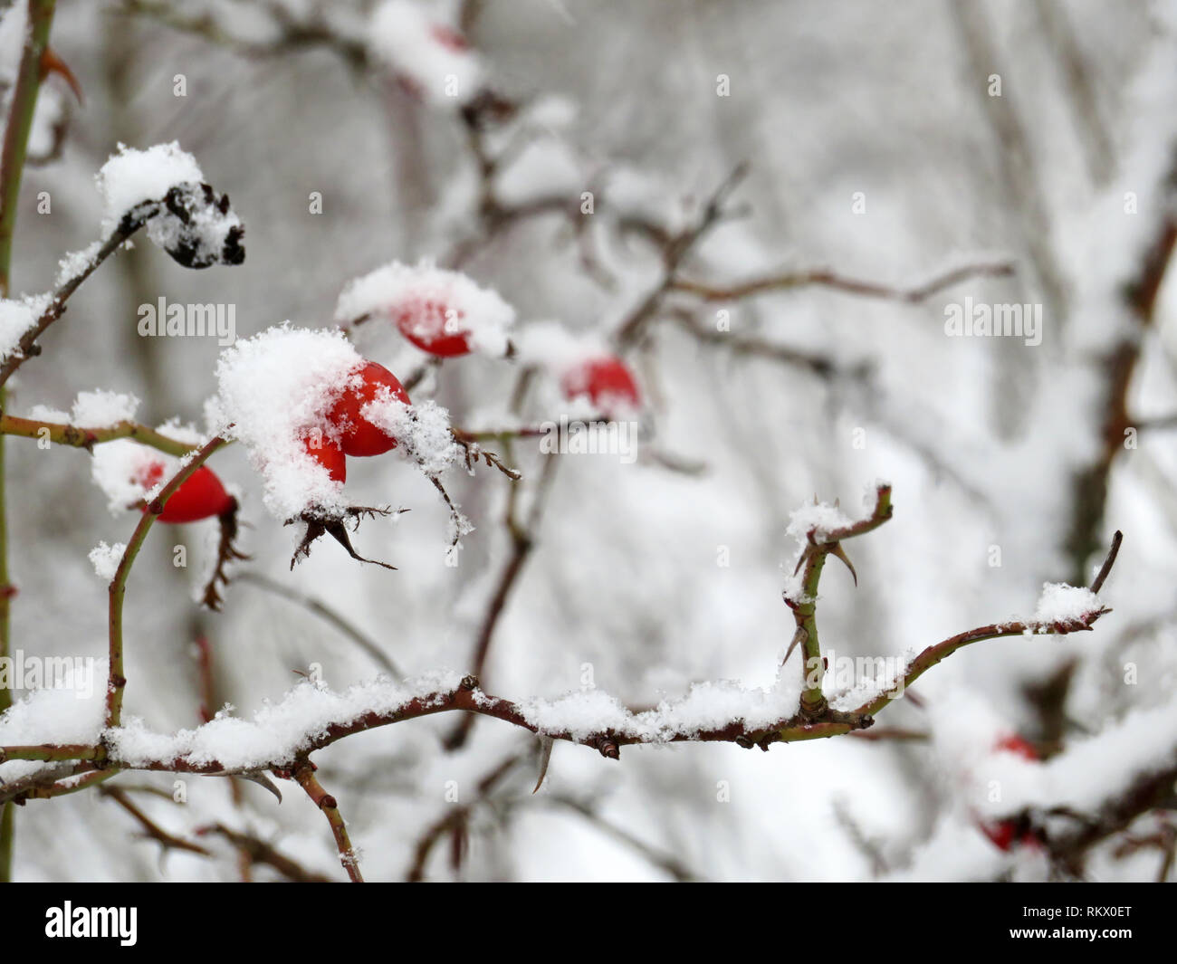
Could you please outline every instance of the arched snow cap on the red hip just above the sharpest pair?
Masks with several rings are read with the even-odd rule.
[[[428,259],[415,266],[393,261],[350,281],[335,305],[335,321],[385,318],[399,324],[437,311],[453,313],[476,352],[503,355],[516,311],[498,292],[479,287],[460,272],[434,267]]]

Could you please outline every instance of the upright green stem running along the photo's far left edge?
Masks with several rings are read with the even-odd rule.
[[[28,152],[28,134],[33,128],[36,94],[41,87],[41,59],[49,46],[55,0],[28,0],[28,26],[25,48],[16,71],[12,108],[5,127],[4,147],[0,149],[0,298],[8,297],[12,268],[12,239],[16,226],[16,199]],[[0,388],[0,411],[5,392]],[[7,657],[11,636],[11,604],[14,589],[8,576],[8,526],[5,505],[4,438],[0,437],[0,657]],[[12,693],[0,690],[0,713],[12,705]],[[12,879],[12,852],[15,822],[13,804],[0,812],[0,883]]]

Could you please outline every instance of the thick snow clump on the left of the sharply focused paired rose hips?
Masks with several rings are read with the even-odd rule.
[[[306,440],[328,431],[326,413],[364,363],[338,330],[278,325],[226,348],[217,363],[211,431],[241,441],[278,519],[305,510],[343,511],[343,486],[312,458]]]

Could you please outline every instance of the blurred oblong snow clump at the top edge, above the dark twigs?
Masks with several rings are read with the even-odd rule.
[[[386,0],[372,13],[368,51],[413,93],[459,107],[478,93],[483,65],[457,31],[415,0]]]

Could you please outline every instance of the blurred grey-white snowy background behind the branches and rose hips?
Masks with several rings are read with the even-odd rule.
[[[48,290],[58,258],[99,237],[93,175],[119,142],[175,140],[191,152],[246,225],[247,258],[186,271],[139,239],[86,282],[45,337],[44,355],[21,370],[14,414],[35,405],[68,411],[79,392],[104,388],[134,393],[151,424],[200,423],[221,350],[213,338],[140,338],[139,305],[160,297],[233,304],[242,339],[285,319],[325,328],[350,279],[394,258],[445,259],[479,231],[477,166],[455,105],[414,99],[390,80],[388,64],[426,75],[438,66],[418,62],[419,45],[401,49],[401,11],[370,19],[373,5],[364,2],[158,5],[184,19],[207,8],[239,39],[231,49],[169,29],[160,16],[117,12],[137,6],[157,5],[59,5],[53,46],[87,100],[79,108],[49,81],[60,89],[46,97],[71,114],[68,133],[58,160],[26,172],[14,293]],[[1030,616],[1044,581],[1078,578],[1065,537],[1073,474],[1099,445],[1099,355],[1131,334],[1121,286],[1165,206],[1172,211],[1161,185],[1177,142],[1177,5],[969,6],[970,15],[943,0],[467,5],[477,69],[506,95],[538,100],[514,140],[494,144],[512,158],[497,197],[576,204],[593,191],[592,250],[610,279],[586,272],[561,214],[510,226],[465,268],[514,306],[520,331],[554,320],[607,334],[661,277],[657,248],[620,221],[640,213],[673,230],[745,160],[750,173],[733,204],[747,217],[707,235],[684,277],[723,284],[830,267],[910,287],[964,264],[1018,264],[1015,278],[970,279],[923,304],[822,288],[731,304],[676,295],[672,304],[706,326],[726,308],[733,333],[822,354],[846,372],[866,363],[872,374],[820,378],[652,323],[646,350],[631,358],[656,436],[631,465],[564,457],[536,551],[496,631],[481,677],[488,691],[556,698],[581,687],[586,664],[597,687],[631,706],[701,680],[771,686],[793,626],[780,599],[796,560],[790,512],[817,493],[856,514],[880,477],[895,487],[895,518],[847,544],[859,587],[837,564],[823,581],[822,638],[837,654],[900,656]],[[330,29],[367,45],[368,66],[353,71],[326,45],[259,53],[280,29],[275,22],[306,22],[328,8]],[[425,8],[457,22],[451,5]],[[275,20],[274,11],[284,13]],[[1068,72],[1057,18],[1072,34],[1093,115]],[[991,49],[992,64],[977,66],[978,46]],[[988,102],[990,73],[1002,77],[1002,109],[1013,112],[1018,144]],[[177,74],[186,97],[173,93]],[[730,97],[717,95],[719,74],[730,78]],[[1011,162],[1013,154],[1020,161]],[[36,211],[42,191],[51,214]],[[312,192],[321,193],[321,214],[308,213]],[[860,213],[856,192],[865,197]],[[1125,192],[1138,197],[1138,213],[1124,212]],[[965,297],[1043,304],[1043,344],[946,338],[944,306]],[[1177,408],[1171,279],[1144,339],[1129,394],[1129,411],[1142,419]],[[391,328],[361,331],[358,347],[403,377],[423,359]],[[458,425],[496,425],[516,373],[501,359],[447,361],[414,401],[432,394]],[[546,410],[544,398],[537,393],[531,415],[558,418],[558,395]],[[978,773],[999,734],[1039,740],[1051,725],[1062,726],[1063,752],[1049,767],[998,763],[1010,771],[999,777],[1012,787],[1008,799],[1097,807],[1142,770],[1173,766],[1172,443],[1170,431],[1142,428],[1138,447],[1115,465],[1097,533],[1103,546],[1112,530],[1125,533],[1102,593],[1115,613],[1092,633],[983,643],[932,670],[913,689],[923,709],[899,702],[879,720],[932,739],[838,738],[769,753],[730,744],[624,747],[620,762],[557,745],[544,789],[531,796],[537,771],[525,759],[470,810],[461,867],[450,866],[440,844],[426,876],[665,879],[670,858],[673,872],[707,879],[1045,876],[1036,853],[1004,853],[977,830],[973,815],[986,805]],[[22,439],[9,439],[7,451],[20,586],[13,645],[27,654],[105,657],[106,584],[87,556],[100,540],[125,541],[134,518],[107,511],[85,452],[45,452]],[[706,468],[671,471],[654,451]],[[533,453],[526,443],[516,447],[516,463],[532,477]],[[265,511],[245,451],[228,448],[211,465],[242,499],[248,569],[346,614],[406,673],[470,669],[510,553],[507,479],[485,467],[474,478],[447,476],[476,526],[459,565],[448,567],[447,513],[428,481],[394,458],[353,459],[353,503],[412,508],[394,523],[367,521],[355,536],[363,554],[399,571],[361,566],[324,540],[290,572],[295,536]],[[198,611],[199,560],[213,539],[205,525],[158,526],[131,578],[128,714],[158,732],[198,723],[198,634],[211,641],[220,698],[246,718],[311,664],[337,691],[375,674],[379,666],[328,623],[254,584],[231,586],[221,614]],[[187,570],[171,565],[178,540],[191,547]],[[993,546],[999,566],[991,565]],[[730,565],[717,565],[722,550]],[[1084,578],[1097,554],[1079,567]],[[1048,720],[1030,690],[1071,660],[1063,712]],[[1126,663],[1138,667],[1135,685],[1124,684]],[[448,753],[441,739],[457,722],[444,714],[384,727],[315,756],[368,879],[406,875],[423,833],[454,806],[447,787],[471,803],[484,776],[534,744],[484,718],[466,746]],[[112,785],[119,782],[172,789],[164,776],[127,774]],[[142,806],[173,832],[219,820],[275,842],[311,870],[343,876],[321,815],[293,784],[284,784],[281,805],[246,785],[237,806],[225,780],[186,782],[186,806],[146,796]],[[1163,819],[1144,816],[1136,830],[1152,832]],[[135,831],[94,793],[31,802],[18,812],[15,875],[237,876],[227,849],[219,860],[169,853],[160,862],[153,844],[128,843]],[[1157,851],[1113,850],[1097,849],[1088,875],[1156,877]]]

